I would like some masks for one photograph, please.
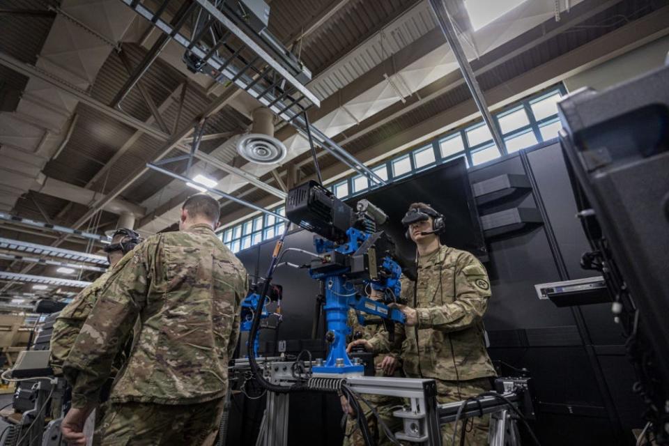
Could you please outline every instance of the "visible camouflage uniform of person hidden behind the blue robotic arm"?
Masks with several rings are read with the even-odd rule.
[[[364,316],[364,315],[363,315]],[[367,317],[367,316],[364,316]],[[362,337],[364,339],[371,339],[371,337],[374,337],[374,334],[380,331],[380,327],[383,325],[360,325],[360,321],[357,320],[357,315],[355,314],[355,310],[350,309],[348,310],[348,326],[351,327],[353,333],[356,331],[362,332]],[[384,331],[384,333],[387,336],[387,332]],[[395,351],[391,353],[395,357],[399,357],[399,351]],[[377,370],[377,373],[383,373],[383,371],[379,371],[378,367],[380,367],[380,363],[383,361],[383,358],[385,358],[386,355],[376,355],[374,357],[374,368]],[[395,370],[395,373],[393,376],[402,376],[403,374],[399,370],[399,367]],[[396,418],[392,416],[393,409],[396,406],[402,406],[403,400],[401,398],[397,397],[386,397],[384,395],[374,395],[374,394],[363,394],[362,397],[368,401],[372,406],[374,406],[374,409],[376,410],[376,413],[378,413],[379,417],[385,425],[390,429],[391,432],[396,432],[400,431],[402,429],[402,422],[399,420],[399,418]],[[376,419],[376,415],[374,415],[374,412],[371,410],[369,406],[367,406],[364,401],[360,401],[360,406],[364,410],[364,417],[367,420],[367,426],[369,426],[369,432],[371,433],[371,436],[373,438],[376,438],[376,444],[379,446],[384,446],[384,445],[392,445],[392,442],[385,436],[385,432],[381,428],[381,426],[378,425],[378,420]],[[364,445],[364,439],[362,438],[362,432],[360,431],[359,426],[357,425],[357,421],[355,418],[348,417],[346,420],[346,432],[344,433],[344,446],[362,446]]]

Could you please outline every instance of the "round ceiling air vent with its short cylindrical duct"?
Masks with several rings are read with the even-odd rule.
[[[253,111],[251,133],[237,142],[237,151],[257,164],[277,164],[286,157],[286,146],[274,137],[274,114],[266,107]]]

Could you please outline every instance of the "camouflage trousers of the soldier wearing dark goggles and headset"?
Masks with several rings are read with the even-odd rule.
[[[465,381],[443,381],[437,382],[437,402],[453,403],[469,397],[476,397],[478,394],[492,389],[489,378],[477,378]],[[484,446],[488,445],[488,429],[490,424],[490,415],[484,417],[469,418],[465,424],[465,445],[466,446]],[[453,444],[454,423],[441,426],[441,443],[443,445]],[[462,422],[458,422],[458,431],[456,445],[460,444],[462,432]]]

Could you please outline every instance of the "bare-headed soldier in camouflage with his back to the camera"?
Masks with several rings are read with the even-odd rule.
[[[211,445],[248,289],[242,263],[215,235],[220,206],[185,201],[180,231],[145,240],[114,268],[63,366],[74,383],[63,437],[85,445],[82,426],[135,318],[128,364],[114,382],[102,445]]]

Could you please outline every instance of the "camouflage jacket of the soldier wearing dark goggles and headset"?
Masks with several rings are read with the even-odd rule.
[[[418,259],[417,272],[417,285],[406,277],[401,284],[418,324],[396,324],[394,346],[386,334],[376,334],[370,340],[374,351],[389,351],[401,343],[403,369],[410,377],[495,376],[484,341],[483,315],[491,292],[482,263],[466,251],[441,246]]]

